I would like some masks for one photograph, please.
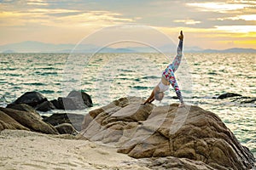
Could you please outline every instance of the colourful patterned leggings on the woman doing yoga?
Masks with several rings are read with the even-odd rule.
[[[168,65],[166,70],[163,72],[163,77],[166,78],[171,84],[172,88],[175,90],[175,93],[177,94],[177,98],[181,103],[183,103],[183,96],[178,88],[176,78],[174,76],[174,72],[177,71],[178,66],[181,63],[182,59],[182,51],[183,51],[183,41],[180,40],[177,46],[177,55],[173,59],[172,64]]]

